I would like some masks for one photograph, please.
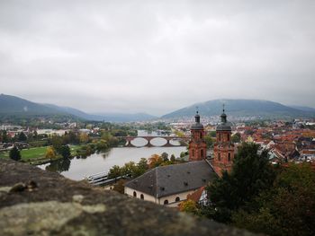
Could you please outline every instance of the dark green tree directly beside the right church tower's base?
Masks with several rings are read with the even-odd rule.
[[[224,171],[207,188],[211,206],[207,215],[212,219],[229,223],[232,211],[237,211],[262,191],[271,188],[275,169],[268,161],[267,153],[258,154],[257,144],[243,143],[238,147],[232,170]]]

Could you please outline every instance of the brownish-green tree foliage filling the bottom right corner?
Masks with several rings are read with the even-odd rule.
[[[233,224],[270,235],[315,235],[315,171],[304,164],[284,167],[273,188],[233,214]]]

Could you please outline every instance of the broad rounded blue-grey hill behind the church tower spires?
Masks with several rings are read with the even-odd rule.
[[[299,118],[315,117],[315,112],[294,109],[274,101],[260,100],[213,100],[195,103],[183,109],[177,109],[164,115],[162,118],[192,117],[196,107],[202,116],[218,116],[225,104],[226,112],[233,117],[256,118]]]

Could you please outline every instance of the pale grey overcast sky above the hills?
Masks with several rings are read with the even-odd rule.
[[[315,107],[315,1],[0,0],[0,92],[88,112]]]

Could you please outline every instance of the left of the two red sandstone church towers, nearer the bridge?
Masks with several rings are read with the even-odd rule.
[[[191,127],[191,140],[189,142],[189,162],[201,161],[206,157],[207,144],[204,141],[204,128],[200,123],[198,111],[194,116],[195,123]]]

